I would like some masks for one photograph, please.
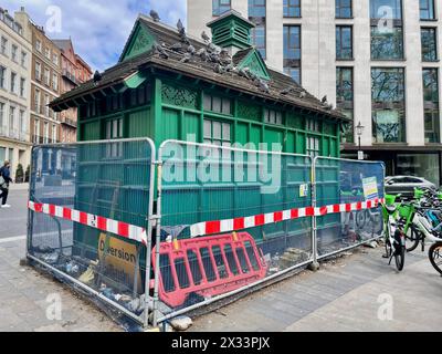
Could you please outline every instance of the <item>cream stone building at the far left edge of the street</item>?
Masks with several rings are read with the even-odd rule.
[[[22,27],[0,8],[0,165],[10,160],[12,178],[19,164],[30,165],[31,43]]]

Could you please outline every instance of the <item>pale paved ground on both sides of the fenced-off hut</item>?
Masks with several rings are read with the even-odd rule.
[[[0,332],[118,332],[107,315],[33,268],[25,256],[27,188],[0,209]],[[434,331],[442,278],[425,253],[407,254],[397,272],[382,248],[359,248],[194,319],[193,332]]]

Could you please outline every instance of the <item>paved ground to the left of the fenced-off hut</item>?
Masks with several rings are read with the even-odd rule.
[[[109,317],[63,284],[30,267],[25,257],[28,186],[12,185],[0,209],[0,332],[118,332]]]

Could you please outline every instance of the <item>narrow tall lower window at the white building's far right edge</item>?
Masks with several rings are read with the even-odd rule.
[[[438,69],[423,69],[422,77],[425,143],[440,143]]]

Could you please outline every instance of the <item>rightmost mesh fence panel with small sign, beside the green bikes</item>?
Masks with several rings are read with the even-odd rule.
[[[315,217],[318,259],[379,238],[380,204],[365,204],[383,198],[383,163],[316,157],[314,176],[316,206],[341,206],[338,212]]]

